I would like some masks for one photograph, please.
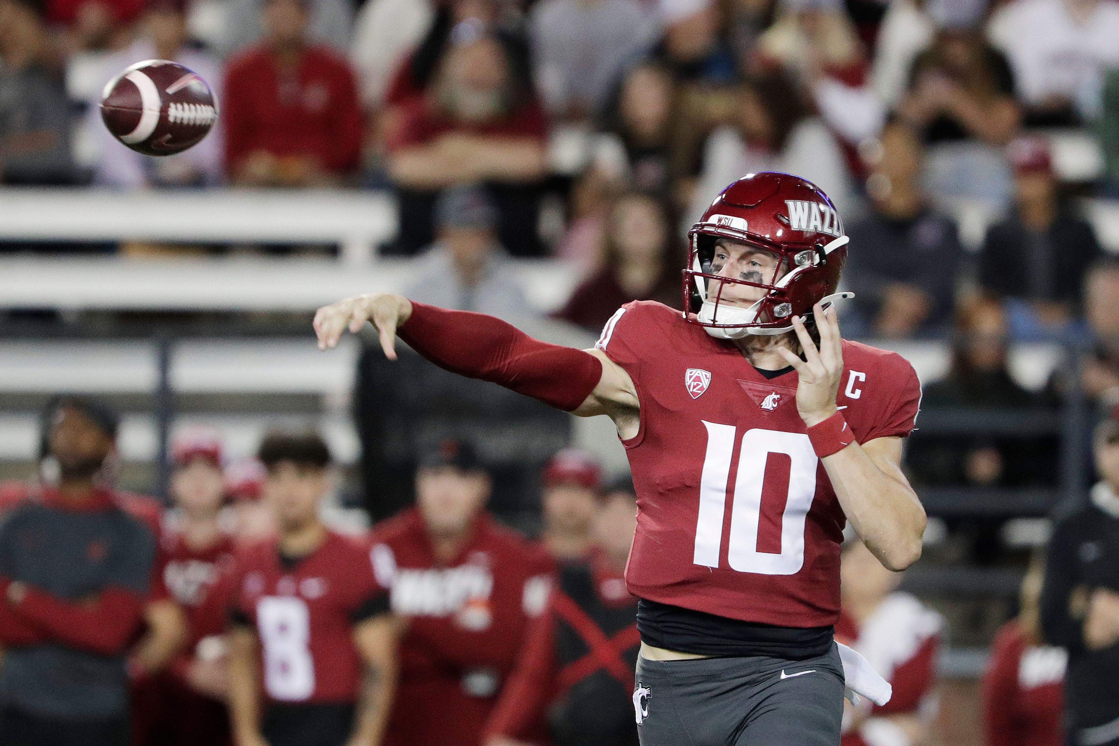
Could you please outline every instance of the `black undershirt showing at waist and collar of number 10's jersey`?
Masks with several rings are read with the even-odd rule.
[[[773,379],[792,372],[793,367],[754,370]],[[718,658],[765,655],[789,660],[824,655],[831,648],[835,633],[831,626],[801,629],[743,622],[645,598],[637,604],[637,629],[642,642],[665,650]]]

